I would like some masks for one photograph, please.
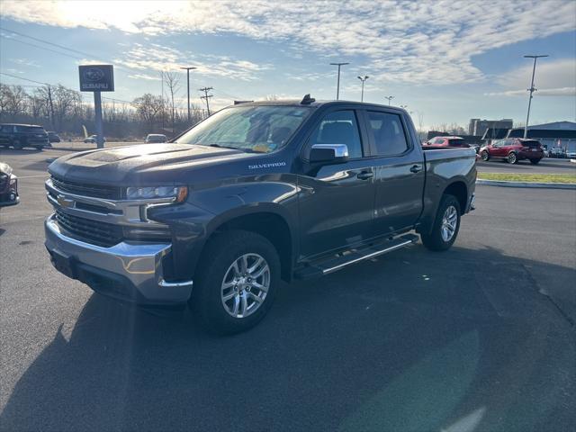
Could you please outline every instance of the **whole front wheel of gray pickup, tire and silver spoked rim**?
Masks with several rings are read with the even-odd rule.
[[[266,238],[248,231],[226,231],[202,254],[191,307],[209,331],[231,335],[251,329],[274,302],[280,259]]]

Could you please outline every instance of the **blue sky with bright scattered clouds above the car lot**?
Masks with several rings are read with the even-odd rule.
[[[532,64],[531,123],[576,120],[576,2],[32,2],[0,4],[0,71],[77,88],[77,65],[112,62],[116,91],[131,101],[161,92],[159,73],[185,76],[192,102],[214,87],[217,107],[238,99],[336,95],[406,104],[425,127],[472,117],[525,121]],[[17,34],[12,31],[17,31]],[[37,38],[33,40],[31,38]],[[65,46],[61,49],[50,43]],[[35,45],[35,46],[31,46]],[[57,52],[54,52],[57,51]],[[33,85],[12,76],[4,84]],[[86,94],[86,101],[90,99]]]

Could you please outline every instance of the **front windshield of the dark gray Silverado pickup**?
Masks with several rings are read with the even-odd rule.
[[[216,112],[175,142],[269,153],[284,147],[310,112],[300,106],[238,106]]]

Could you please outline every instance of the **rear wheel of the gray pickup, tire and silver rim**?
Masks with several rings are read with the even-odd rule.
[[[443,195],[432,230],[428,233],[420,234],[424,246],[436,251],[449,249],[458,236],[460,213],[460,202],[455,196]]]

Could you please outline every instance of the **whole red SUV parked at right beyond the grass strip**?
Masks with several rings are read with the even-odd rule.
[[[509,164],[516,164],[518,160],[528,159],[536,165],[544,157],[544,149],[537,139],[508,138],[499,139],[480,149],[483,161],[491,157],[506,159]]]

